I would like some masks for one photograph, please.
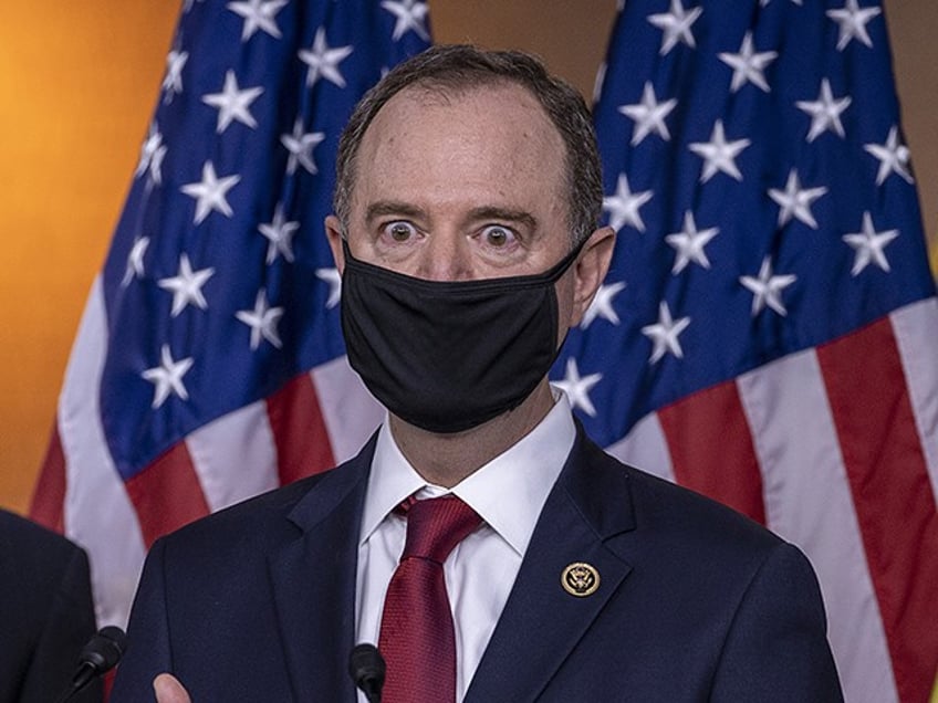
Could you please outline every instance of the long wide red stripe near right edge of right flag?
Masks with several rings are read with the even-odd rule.
[[[938,664],[938,514],[888,318],[817,358],[903,701],[926,701]]]

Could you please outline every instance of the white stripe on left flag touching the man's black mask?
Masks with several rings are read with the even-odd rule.
[[[332,444],[332,455],[340,464],[358,453],[362,444],[384,421],[385,410],[344,356],[317,366],[310,374]]]

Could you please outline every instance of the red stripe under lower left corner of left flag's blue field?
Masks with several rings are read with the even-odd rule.
[[[157,537],[209,514],[185,442],[160,454],[124,485],[137,513],[147,549]]]

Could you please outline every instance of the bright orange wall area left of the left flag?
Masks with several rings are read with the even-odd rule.
[[[28,506],[156,99],[173,4],[0,3],[0,505]]]

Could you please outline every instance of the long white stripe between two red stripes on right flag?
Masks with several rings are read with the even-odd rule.
[[[768,526],[801,547],[817,573],[846,700],[898,701],[816,355],[791,355],[737,385],[762,472]]]

